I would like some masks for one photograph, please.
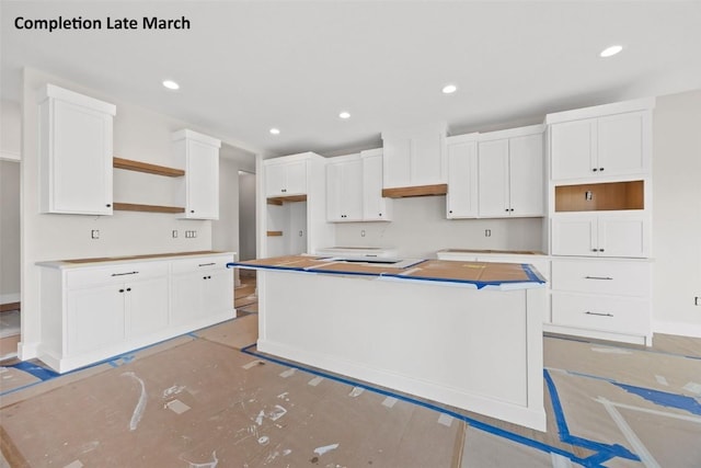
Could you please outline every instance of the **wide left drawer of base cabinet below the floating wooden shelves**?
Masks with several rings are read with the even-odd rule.
[[[104,267],[87,267],[66,272],[69,289],[99,284],[127,283],[168,275],[168,262],[125,263]]]

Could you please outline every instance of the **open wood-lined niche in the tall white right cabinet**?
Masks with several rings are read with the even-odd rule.
[[[555,212],[645,209],[644,192],[644,181],[559,185],[555,187]]]

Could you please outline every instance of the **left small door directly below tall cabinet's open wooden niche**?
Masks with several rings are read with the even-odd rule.
[[[554,217],[552,222],[553,255],[596,256],[596,216]]]

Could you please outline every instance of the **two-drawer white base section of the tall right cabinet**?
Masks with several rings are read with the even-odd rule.
[[[652,263],[646,260],[552,260],[548,331],[652,343]]]

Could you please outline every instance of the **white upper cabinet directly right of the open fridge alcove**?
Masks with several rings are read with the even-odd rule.
[[[363,220],[363,161],[360,155],[332,158],[326,163],[326,219]]]

